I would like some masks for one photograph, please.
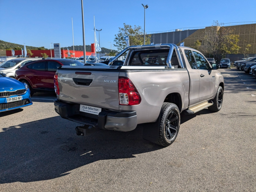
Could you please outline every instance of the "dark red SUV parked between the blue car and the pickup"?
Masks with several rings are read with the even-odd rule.
[[[54,75],[58,67],[62,65],[84,65],[72,59],[45,59],[30,62],[15,72],[15,79],[27,83],[30,95],[40,91],[54,91]]]

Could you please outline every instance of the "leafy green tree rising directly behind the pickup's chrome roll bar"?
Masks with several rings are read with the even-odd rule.
[[[144,44],[144,31],[141,26],[132,27],[131,25],[126,25],[124,23],[124,28],[119,27],[118,34],[115,35],[114,46],[117,47],[118,51],[122,51],[126,48],[126,43],[124,40],[125,36],[129,36],[130,46],[132,45],[142,45]],[[150,44],[151,35],[146,35],[145,42]]]

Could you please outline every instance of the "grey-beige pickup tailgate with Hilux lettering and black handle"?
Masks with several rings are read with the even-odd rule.
[[[119,70],[60,68],[57,72],[60,100],[119,111]]]

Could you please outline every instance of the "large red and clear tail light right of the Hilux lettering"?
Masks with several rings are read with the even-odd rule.
[[[120,105],[139,105],[141,97],[132,81],[127,77],[118,77]]]

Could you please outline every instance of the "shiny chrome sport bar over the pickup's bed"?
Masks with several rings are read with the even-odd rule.
[[[154,44],[154,45],[137,45],[137,46],[130,46],[130,47],[126,47],[123,51],[121,51],[119,54],[116,55],[116,57],[114,57],[111,61],[109,61],[108,65],[112,65],[112,63],[121,55],[123,55],[126,51],[128,50],[135,50],[135,49],[157,49],[157,48],[166,48],[166,47],[170,47],[170,51],[167,57],[167,68],[172,68],[172,63],[171,63],[171,59],[172,59],[172,53],[173,53],[173,49],[175,49],[176,54],[178,55],[178,60],[180,62],[180,65],[182,68],[184,68],[183,62],[182,62],[182,58],[180,55],[180,50],[179,47],[175,44]]]

